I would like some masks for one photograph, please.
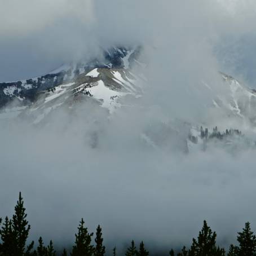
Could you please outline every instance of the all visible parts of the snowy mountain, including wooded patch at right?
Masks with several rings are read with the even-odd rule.
[[[133,72],[144,67],[139,62],[141,50],[141,47],[112,47],[103,51],[102,58],[65,64],[44,76],[24,81],[0,83],[0,120],[20,116],[32,125],[39,125],[56,109],[72,109],[81,101],[91,101],[111,114],[122,107],[122,98],[129,96],[138,100],[143,96],[143,73]],[[248,122],[254,127],[256,91],[227,74],[219,73],[219,76],[224,86],[222,93],[214,90],[210,83],[198,85],[202,95],[210,95],[208,107],[222,113],[224,120],[235,118],[237,123]],[[228,145],[240,143],[242,136],[236,130],[240,127],[225,127],[215,133],[214,124],[211,133],[212,127],[207,125],[186,120],[155,123],[145,127],[140,138],[147,147],[174,147],[183,152],[205,150],[206,144],[216,140]],[[201,126],[204,130],[209,128],[208,137],[202,136]]]

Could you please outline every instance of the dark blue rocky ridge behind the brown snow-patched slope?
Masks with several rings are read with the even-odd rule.
[[[134,49],[113,47],[104,51],[100,60],[92,59],[86,63],[80,61],[75,64],[64,64],[45,76],[0,83],[0,108],[10,104],[13,100],[20,102],[21,105],[28,105],[29,101],[37,100],[38,93],[63,83],[76,82],[81,78],[80,75],[89,73],[94,68],[128,69],[138,56],[139,51],[139,47]],[[118,84],[118,82],[116,83]],[[112,85],[112,83],[108,84]]]

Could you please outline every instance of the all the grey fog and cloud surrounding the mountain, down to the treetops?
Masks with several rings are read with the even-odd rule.
[[[13,212],[21,191],[33,239],[42,235],[58,244],[73,241],[82,217],[92,232],[101,224],[111,247],[131,239],[155,248],[189,244],[204,219],[223,246],[246,221],[256,230],[255,151],[180,150],[188,134],[184,122],[245,129],[240,120],[213,114],[208,103],[227,93],[219,70],[252,85],[253,65],[239,69],[234,51],[222,51],[229,38],[244,48],[241,40],[250,35],[254,45],[255,2],[32,2],[1,3],[0,80],[46,73],[111,45],[143,45],[147,66],[134,72],[143,71],[147,83],[139,103],[123,99],[133,107],[112,116],[86,101],[71,112],[55,111],[42,126],[23,117],[1,120],[0,216]],[[149,147],[143,134],[149,127],[158,134],[159,123],[176,126],[182,139],[171,135]]]

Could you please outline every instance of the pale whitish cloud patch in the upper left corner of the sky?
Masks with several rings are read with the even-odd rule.
[[[11,0],[1,4],[1,37],[25,37],[29,33],[50,27],[56,20],[72,16],[81,23],[91,23],[92,3],[90,0],[31,1]]]

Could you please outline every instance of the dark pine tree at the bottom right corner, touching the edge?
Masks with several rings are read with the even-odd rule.
[[[256,255],[256,237],[251,231],[250,223],[246,222],[242,232],[238,233],[237,241],[239,242],[239,256],[254,256]]]

